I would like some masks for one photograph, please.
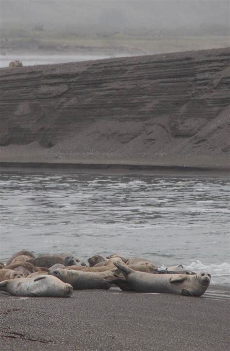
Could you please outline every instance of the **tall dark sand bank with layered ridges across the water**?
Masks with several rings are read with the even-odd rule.
[[[0,162],[229,168],[230,49],[0,69]]]

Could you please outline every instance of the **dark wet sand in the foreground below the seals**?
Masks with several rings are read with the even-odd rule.
[[[221,296],[221,297],[220,297]],[[202,297],[74,291],[71,298],[0,295],[2,350],[229,350],[230,288]]]

